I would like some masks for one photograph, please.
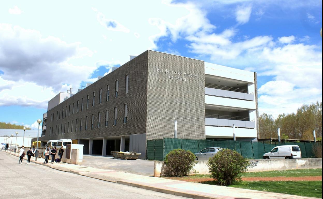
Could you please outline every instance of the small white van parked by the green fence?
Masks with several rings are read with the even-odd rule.
[[[297,145],[276,146],[269,153],[263,155],[264,159],[292,159],[301,157],[301,150]]]

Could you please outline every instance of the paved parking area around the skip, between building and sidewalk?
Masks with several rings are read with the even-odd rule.
[[[150,160],[122,160],[113,159],[112,156],[83,155],[83,162],[79,165],[146,176],[154,174],[154,162]]]

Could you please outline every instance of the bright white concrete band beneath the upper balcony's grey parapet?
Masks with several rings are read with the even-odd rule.
[[[242,109],[256,109],[256,103],[254,101],[230,99],[224,97],[216,97],[211,95],[205,95],[205,104],[213,104],[226,107],[237,107]]]

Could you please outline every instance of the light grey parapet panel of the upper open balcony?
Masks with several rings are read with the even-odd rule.
[[[208,88],[208,87],[205,87],[205,95],[228,97],[228,98],[242,99],[242,100],[249,100],[249,101],[255,100],[254,94],[223,90],[223,89],[217,89],[217,88]]]

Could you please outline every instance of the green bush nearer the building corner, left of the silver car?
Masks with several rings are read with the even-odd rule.
[[[191,151],[174,149],[166,155],[161,167],[161,176],[187,176],[195,164],[195,156]]]

